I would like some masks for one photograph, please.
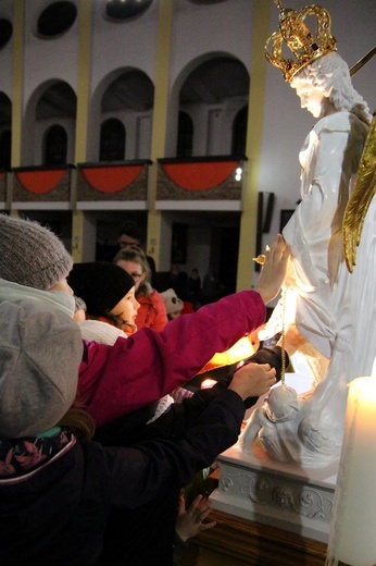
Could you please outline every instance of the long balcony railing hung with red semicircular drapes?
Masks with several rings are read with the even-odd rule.
[[[246,161],[233,156],[159,159],[155,208],[241,210]],[[0,171],[0,208],[147,210],[151,164],[136,160]]]

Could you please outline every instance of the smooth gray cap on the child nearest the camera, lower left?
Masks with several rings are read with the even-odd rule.
[[[0,302],[0,436],[35,436],[54,427],[77,391],[78,324],[36,299]]]

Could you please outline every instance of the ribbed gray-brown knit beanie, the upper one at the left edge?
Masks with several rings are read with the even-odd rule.
[[[64,244],[38,222],[0,214],[0,278],[47,291],[71,271]]]

